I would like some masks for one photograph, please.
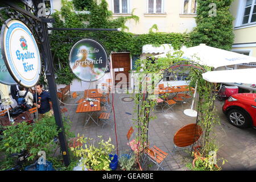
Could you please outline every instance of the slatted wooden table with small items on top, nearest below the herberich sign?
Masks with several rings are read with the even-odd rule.
[[[86,100],[82,101],[77,106],[76,113],[86,113],[86,115],[87,115],[87,118],[86,118],[86,121],[85,121],[84,125],[86,125],[89,122],[90,118],[93,120],[94,123],[96,123],[96,125],[98,125],[98,123],[92,118],[92,114],[95,111],[100,111],[101,110],[101,102],[100,102],[100,98],[94,98],[94,99],[97,100],[96,102],[93,102],[94,106],[90,106],[90,102],[86,101]]]

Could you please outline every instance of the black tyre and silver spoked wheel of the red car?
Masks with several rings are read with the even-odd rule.
[[[246,111],[240,109],[232,109],[227,113],[229,122],[239,128],[246,128],[250,126],[250,115]]]

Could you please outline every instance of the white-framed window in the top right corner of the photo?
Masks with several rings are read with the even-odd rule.
[[[242,24],[256,22],[256,0],[246,0]]]

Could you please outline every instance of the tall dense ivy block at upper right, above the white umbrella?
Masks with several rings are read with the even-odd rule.
[[[197,27],[190,34],[192,46],[205,43],[230,50],[234,42],[233,16],[230,5],[233,0],[198,0]]]

